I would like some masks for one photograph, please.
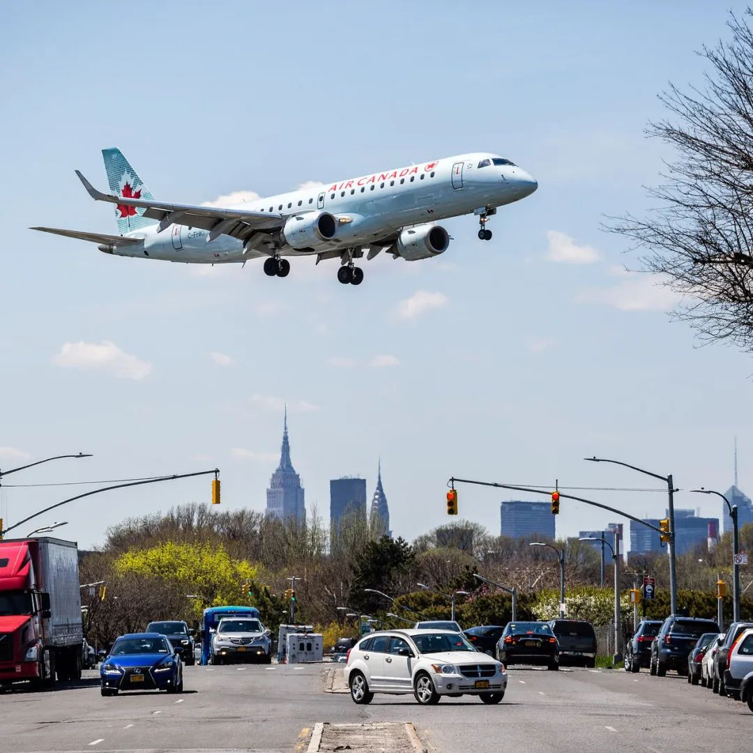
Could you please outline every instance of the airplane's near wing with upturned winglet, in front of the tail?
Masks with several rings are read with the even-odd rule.
[[[245,240],[252,236],[255,230],[276,230],[285,224],[285,218],[277,212],[248,212],[245,209],[218,209],[213,206],[168,204],[156,200],[131,199],[113,196],[112,194],[102,194],[78,170],[76,170],[76,175],[84,184],[84,188],[86,188],[90,197],[96,201],[145,209],[145,217],[160,221],[157,226],[157,231],[160,233],[170,225],[177,223],[209,230],[207,242],[212,242],[221,235],[230,235]]]

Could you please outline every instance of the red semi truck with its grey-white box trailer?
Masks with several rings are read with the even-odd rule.
[[[75,542],[0,541],[0,685],[81,678],[83,639]]]

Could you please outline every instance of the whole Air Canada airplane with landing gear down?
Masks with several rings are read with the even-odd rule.
[[[381,251],[406,261],[447,251],[450,235],[438,221],[477,215],[478,237],[490,240],[486,223],[499,206],[532,194],[538,183],[505,157],[458,154],[373,172],[316,188],[260,198],[221,209],[157,201],[120,149],[102,150],[109,194],[76,175],[90,197],[114,204],[120,235],[32,227],[44,233],[98,244],[117,256],[185,264],[245,264],[264,258],[267,276],[286,277],[288,259],[339,259],[337,279],[360,285],[355,261]]]

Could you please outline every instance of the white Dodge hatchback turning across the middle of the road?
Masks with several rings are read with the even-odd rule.
[[[370,633],[349,651],[344,671],[355,703],[375,693],[413,693],[424,705],[466,694],[499,703],[508,687],[504,664],[450,630]]]

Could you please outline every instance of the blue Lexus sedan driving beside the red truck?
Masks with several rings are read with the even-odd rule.
[[[183,664],[178,652],[160,633],[120,636],[99,668],[102,695],[118,691],[183,690]]]

